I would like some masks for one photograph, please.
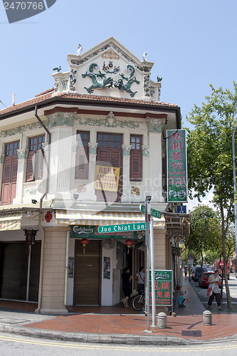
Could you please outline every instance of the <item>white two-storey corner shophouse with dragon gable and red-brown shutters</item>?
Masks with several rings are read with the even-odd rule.
[[[39,313],[120,302],[122,268],[135,276],[144,265],[144,231],[98,234],[97,226],[144,222],[147,195],[162,211],[155,268],[177,269],[184,236],[184,216],[166,212],[165,194],[165,137],[180,128],[180,110],[159,102],[153,63],[111,37],[68,64],[52,90],[0,111],[0,298],[37,302]]]

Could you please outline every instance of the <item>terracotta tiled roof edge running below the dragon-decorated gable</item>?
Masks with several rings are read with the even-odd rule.
[[[38,94],[35,98],[31,100],[26,100],[23,103],[16,104],[14,106],[10,106],[9,108],[0,110],[0,115],[7,114],[9,112],[14,112],[16,110],[25,109],[28,106],[36,105],[38,103],[43,103],[43,101],[50,98],[68,98],[68,99],[78,99],[78,100],[91,100],[91,101],[100,101],[100,102],[110,102],[110,103],[133,103],[133,104],[143,104],[150,106],[166,106],[169,108],[177,108],[178,105],[168,104],[159,101],[144,101],[144,100],[135,100],[135,99],[124,99],[124,98],[112,98],[107,96],[97,96],[97,95],[83,95],[83,94],[67,94],[67,93],[59,93],[53,96],[53,88],[46,90],[45,92]]]

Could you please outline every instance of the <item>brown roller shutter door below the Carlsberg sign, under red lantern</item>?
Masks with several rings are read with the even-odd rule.
[[[75,240],[74,305],[100,305],[100,240]]]

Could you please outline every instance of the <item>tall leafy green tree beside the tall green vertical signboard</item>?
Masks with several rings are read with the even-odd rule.
[[[214,204],[221,216],[221,239],[224,278],[228,307],[231,296],[226,273],[226,234],[233,219],[233,164],[231,137],[236,127],[237,84],[231,90],[211,87],[211,95],[201,107],[194,105],[187,120],[194,130],[187,129],[189,190],[194,197],[204,197],[213,189]],[[194,189],[194,190],[193,190]]]

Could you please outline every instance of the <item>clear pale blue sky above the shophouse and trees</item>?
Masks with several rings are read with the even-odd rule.
[[[53,68],[68,70],[78,43],[87,51],[114,36],[162,77],[160,100],[186,115],[215,88],[236,80],[235,0],[56,0],[41,14],[9,23],[0,3],[0,100],[10,106],[53,88]],[[12,1],[9,1],[11,4]],[[4,106],[0,103],[0,109]],[[194,201],[193,204],[196,204]]]

